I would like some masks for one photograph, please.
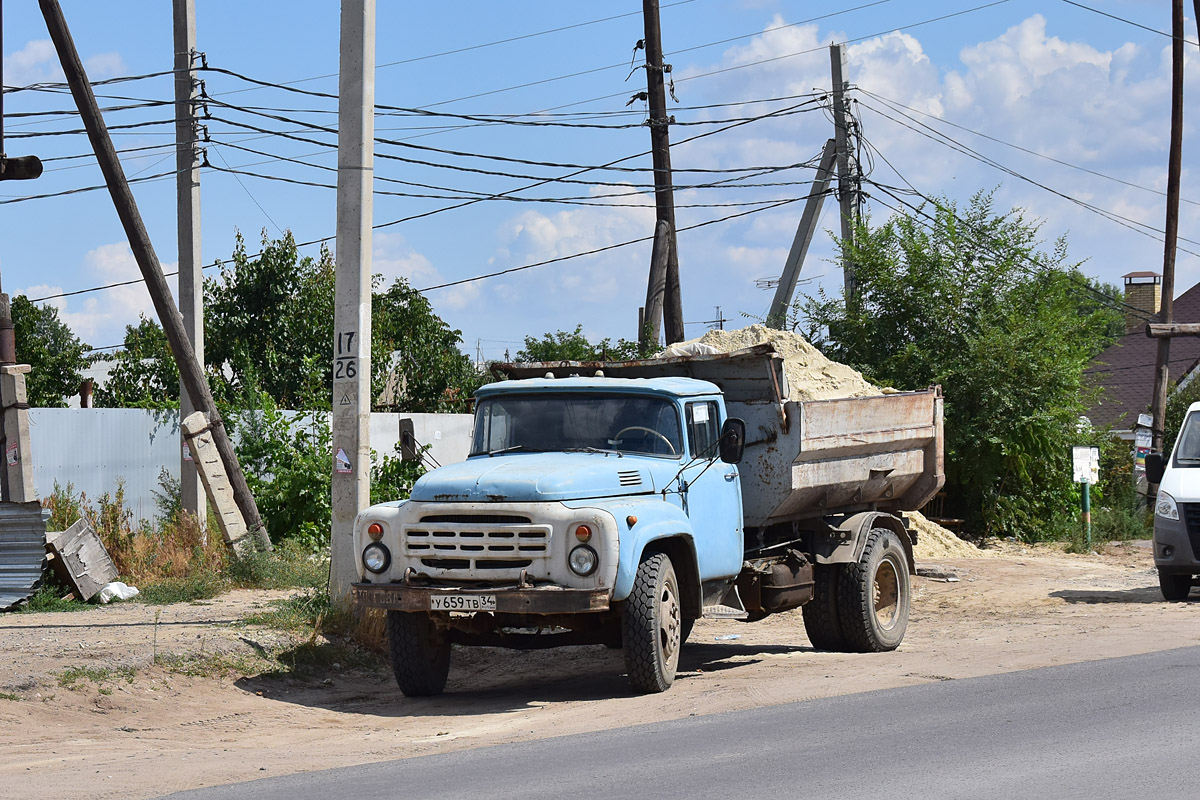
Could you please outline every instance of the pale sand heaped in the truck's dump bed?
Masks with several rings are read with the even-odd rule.
[[[732,353],[767,342],[775,345],[775,351],[784,356],[790,399],[874,397],[889,391],[875,386],[857,369],[824,357],[821,350],[799,333],[778,331],[766,325],[751,325],[737,331],[708,331],[698,339],[680,342],[671,349],[702,344],[718,353]],[[671,349],[667,354],[671,354]]]

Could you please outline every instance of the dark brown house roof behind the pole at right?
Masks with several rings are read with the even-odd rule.
[[[1200,321],[1200,283],[1175,299],[1171,318],[1180,323]],[[1102,392],[1100,399],[1087,411],[1092,425],[1128,429],[1139,414],[1150,410],[1157,357],[1158,339],[1150,338],[1139,327],[1092,359],[1084,379]],[[1171,339],[1168,363],[1172,383],[1192,372],[1200,363],[1200,337]]]

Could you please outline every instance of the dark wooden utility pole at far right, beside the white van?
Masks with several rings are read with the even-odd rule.
[[[1180,172],[1183,161],[1183,0],[1171,0],[1171,145],[1166,164],[1166,228],[1163,236],[1163,306],[1158,321],[1171,323],[1175,305],[1175,246],[1180,234]],[[1158,357],[1154,360],[1154,393],[1151,396],[1150,414],[1151,449],[1163,451],[1164,419],[1166,416],[1166,389],[1171,357],[1171,337],[1158,339]]]

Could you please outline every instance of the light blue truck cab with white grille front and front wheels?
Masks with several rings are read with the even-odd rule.
[[[743,564],[730,463],[743,428],[720,390],[676,377],[532,378],[476,399],[467,461],[355,524],[355,597],[389,609],[401,688],[440,691],[456,640],[629,649],[638,632],[622,630],[623,610],[649,591],[636,584],[650,569],[654,600],[634,604],[647,606],[644,682],[661,691],[706,596],[719,603]],[[563,632],[524,632],[547,627]]]

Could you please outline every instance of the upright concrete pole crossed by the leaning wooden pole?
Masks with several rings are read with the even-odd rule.
[[[196,52],[196,0],[173,0],[175,41],[175,209],[179,239],[179,311],[196,360],[204,363],[204,272],[200,260],[200,162],[197,157],[196,104],[199,83],[192,68]],[[208,504],[194,455],[184,437],[184,420],[196,403],[179,380],[179,489],[184,511],[205,530]]]

